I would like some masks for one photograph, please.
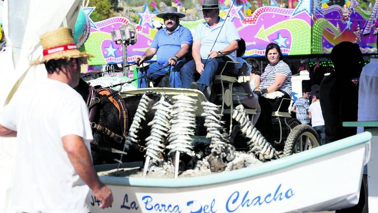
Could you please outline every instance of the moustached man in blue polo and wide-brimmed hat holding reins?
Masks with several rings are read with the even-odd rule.
[[[169,74],[171,87],[181,88],[181,68],[187,62],[186,55],[189,53],[193,38],[188,28],[179,24],[179,18],[185,17],[184,13],[177,12],[176,7],[167,6],[164,12],[157,15],[164,19],[165,28],[160,29],[154,40],[143,54],[136,59],[141,64],[150,60],[155,54],[157,62],[149,66],[146,71],[138,71],[138,88],[148,87],[148,81]]]

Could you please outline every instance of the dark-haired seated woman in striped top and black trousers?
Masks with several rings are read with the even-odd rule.
[[[277,111],[283,98],[291,99],[291,71],[289,66],[283,61],[280,46],[270,43],[266,47],[265,57],[268,60],[264,72],[261,74],[261,83],[255,93],[259,96],[265,93],[273,93],[276,91],[283,94],[282,97],[268,99],[261,96],[258,103],[262,108],[260,119],[256,123],[256,128],[264,137],[272,136],[272,112]],[[290,101],[283,101],[279,111],[288,111]]]

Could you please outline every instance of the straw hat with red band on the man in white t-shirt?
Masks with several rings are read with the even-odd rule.
[[[80,52],[72,37],[70,28],[58,28],[39,37],[43,48],[42,60],[36,60],[31,65],[43,64],[52,59],[91,58],[92,55]]]

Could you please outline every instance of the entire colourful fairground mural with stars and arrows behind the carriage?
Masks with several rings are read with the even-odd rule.
[[[292,9],[262,6],[252,12],[253,5],[248,0],[235,2],[220,0],[220,4],[226,6],[221,10],[220,16],[224,18],[229,13],[228,19],[235,24],[240,37],[246,41],[246,57],[264,56],[265,47],[271,42],[280,45],[284,55],[330,53],[335,44],[344,40],[358,43],[363,53],[377,51],[374,35],[377,33],[375,26],[378,16],[377,2],[373,12],[367,12],[358,6],[356,0],[347,0],[347,13],[341,6],[328,6],[323,0],[299,0],[292,1],[292,4],[293,2],[296,7]],[[172,2],[172,5],[177,6],[182,12],[189,11],[178,0]],[[158,8],[155,1],[152,2],[152,8],[154,9],[150,11],[146,4],[141,11],[136,11],[140,17],[139,22],[135,24],[138,40],[134,45],[127,47],[127,61],[130,63],[134,62],[137,56],[143,55],[151,45],[157,33],[153,21],[163,22],[156,17],[161,8]],[[84,8],[84,11],[89,16],[94,9],[95,7],[88,7]],[[190,17],[195,16],[190,14]],[[89,18],[89,22],[91,34],[85,42],[85,49],[95,55],[89,64],[122,63],[122,45],[112,41],[110,32],[123,24],[131,23],[130,20],[125,17],[114,17],[93,22]],[[180,24],[193,34],[196,26],[201,22],[204,20],[197,18],[194,21],[181,20]]]

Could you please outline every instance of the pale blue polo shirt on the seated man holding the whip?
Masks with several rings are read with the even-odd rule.
[[[224,26],[222,28],[223,23]],[[220,31],[221,33],[219,34]],[[215,42],[216,38],[217,42]],[[232,22],[225,21],[224,19],[220,18],[218,25],[213,29],[210,28],[207,22],[199,24],[195,29],[193,40],[201,40],[201,48],[199,52],[202,59],[207,59],[214,43],[215,45],[213,47],[213,51],[220,51],[230,45],[231,41],[240,40],[240,37],[236,31],[235,25]],[[236,61],[236,51],[227,56],[233,61]]]

